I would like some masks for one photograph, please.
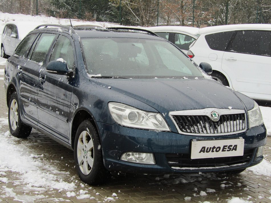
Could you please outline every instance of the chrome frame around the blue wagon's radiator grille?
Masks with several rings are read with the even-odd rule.
[[[179,126],[175,122],[173,115],[176,116],[208,116],[211,119],[211,111],[216,111],[219,113],[219,115],[229,115],[229,114],[245,114],[245,129],[236,131],[236,132],[230,132],[230,133],[217,133],[217,134],[202,134],[202,133],[186,133],[182,132],[179,129]],[[242,132],[246,132],[247,130],[247,115],[246,111],[243,109],[221,109],[221,108],[204,108],[204,109],[194,109],[194,110],[183,110],[183,111],[170,111],[169,112],[169,117],[173,121],[175,127],[178,130],[179,134],[184,134],[184,135],[193,135],[193,136],[224,136],[224,135],[233,135],[233,134],[238,134]]]

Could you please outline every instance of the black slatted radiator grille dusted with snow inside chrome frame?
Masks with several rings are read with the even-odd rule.
[[[171,115],[171,118],[179,133],[183,134],[236,134],[246,130],[245,113],[220,115],[218,121],[208,115]]]

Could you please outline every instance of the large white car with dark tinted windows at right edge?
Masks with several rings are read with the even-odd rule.
[[[201,28],[187,53],[211,64],[214,79],[253,99],[271,101],[271,25]]]

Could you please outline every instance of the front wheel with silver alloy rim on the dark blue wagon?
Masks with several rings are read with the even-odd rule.
[[[104,183],[110,172],[104,167],[100,138],[91,121],[84,120],[74,140],[74,161],[79,178],[89,185]]]

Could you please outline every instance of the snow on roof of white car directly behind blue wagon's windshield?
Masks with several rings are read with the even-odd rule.
[[[187,27],[187,26],[156,26],[156,27],[148,27],[145,28],[146,30],[150,30],[152,32],[158,31],[180,31],[180,32],[187,32],[192,35],[199,34],[199,28],[195,27]]]

